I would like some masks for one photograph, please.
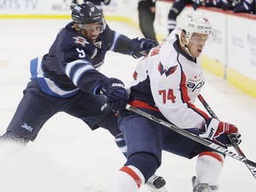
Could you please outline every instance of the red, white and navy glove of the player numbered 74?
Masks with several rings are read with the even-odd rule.
[[[208,140],[213,140],[224,147],[231,146],[231,141],[228,137],[231,137],[237,145],[242,141],[240,140],[241,134],[234,124],[220,122],[214,118],[205,122],[203,127],[199,130],[199,136]]]

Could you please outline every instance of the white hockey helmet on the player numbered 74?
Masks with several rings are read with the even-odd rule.
[[[188,39],[193,35],[193,33],[212,36],[212,25],[204,15],[204,12],[184,12],[180,18],[180,25],[178,28],[179,37],[183,30],[186,31],[186,37]]]

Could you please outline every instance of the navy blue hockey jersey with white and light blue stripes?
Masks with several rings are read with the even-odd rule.
[[[95,92],[107,79],[98,69],[104,62],[106,52],[131,54],[131,39],[110,29],[100,33],[92,44],[86,36],[73,28],[74,22],[62,28],[49,52],[31,60],[31,79],[50,95],[67,98],[78,90]]]

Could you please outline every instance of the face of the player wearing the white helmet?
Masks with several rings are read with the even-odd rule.
[[[208,39],[206,34],[193,33],[193,35],[188,40],[188,50],[193,57],[199,57],[203,51],[204,44]]]

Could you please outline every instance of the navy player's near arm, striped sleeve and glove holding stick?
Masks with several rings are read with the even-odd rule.
[[[80,90],[93,94],[103,93],[107,97],[108,106],[121,112],[127,103],[124,83],[116,78],[108,78],[93,67],[93,50],[90,44],[87,44],[87,48],[86,45],[76,45],[74,49],[68,50],[68,62],[63,64],[63,70]]]

